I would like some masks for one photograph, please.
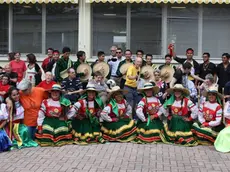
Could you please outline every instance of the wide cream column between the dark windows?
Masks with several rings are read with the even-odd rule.
[[[78,51],[85,51],[87,58],[92,57],[91,39],[91,4],[85,0],[79,0],[78,20]]]

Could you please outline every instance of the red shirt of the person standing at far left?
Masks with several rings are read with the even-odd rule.
[[[18,82],[20,82],[23,78],[23,73],[26,71],[26,64],[24,61],[11,61],[10,67],[12,69],[12,72],[16,72],[18,74]]]

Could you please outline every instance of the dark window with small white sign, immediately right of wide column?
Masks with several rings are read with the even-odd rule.
[[[93,55],[110,54],[110,47],[126,49],[126,11],[124,3],[93,3]]]

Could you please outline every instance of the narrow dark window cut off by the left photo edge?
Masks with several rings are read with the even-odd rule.
[[[8,9],[8,5],[0,5],[0,54],[8,53]]]

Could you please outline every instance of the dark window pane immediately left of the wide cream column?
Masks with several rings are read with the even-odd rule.
[[[62,50],[71,48],[72,53],[78,48],[78,5],[46,5],[46,48]]]

